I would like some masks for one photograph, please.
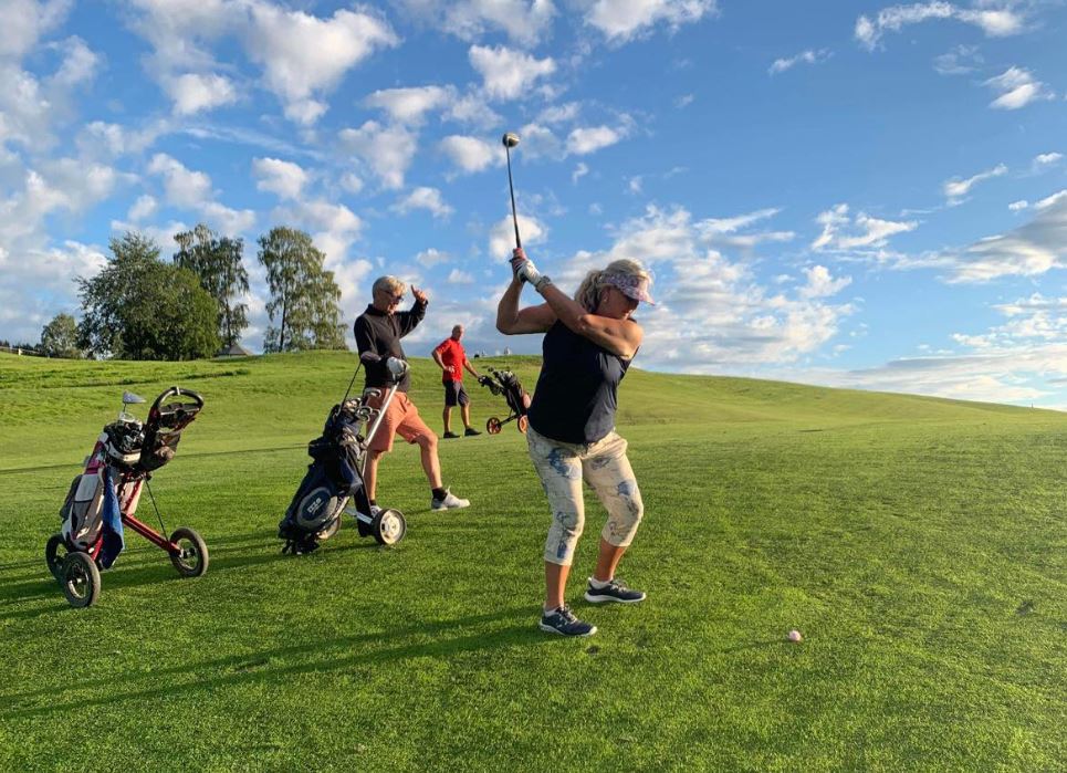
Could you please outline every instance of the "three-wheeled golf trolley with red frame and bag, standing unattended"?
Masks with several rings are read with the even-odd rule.
[[[71,606],[87,607],[100,597],[100,571],[109,568],[122,552],[124,526],[166,551],[182,577],[199,577],[208,571],[208,547],[195,531],[180,527],[166,537],[161,518],[160,532],[135,518],[142,490],[148,489],[151,498],[151,474],[174,459],[181,430],[196,419],[203,399],[195,391],[170,387],[151,404],[144,424],[126,411],[140,403],[143,397],[123,393],[118,419],[96,439],[60,510],[62,529],[45,545],[49,571]]]

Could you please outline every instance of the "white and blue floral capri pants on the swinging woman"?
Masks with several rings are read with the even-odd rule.
[[[626,458],[626,440],[613,430],[589,445],[559,442],[531,427],[526,443],[552,508],[545,561],[569,566],[574,560],[585,526],[583,480],[593,487],[608,512],[600,536],[617,547],[629,546],[645,505]]]

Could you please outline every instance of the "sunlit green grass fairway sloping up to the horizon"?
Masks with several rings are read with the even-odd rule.
[[[533,387],[536,361],[489,362]],[[631,370],[620,575],[649,599],[580,600],[590,495],[568,595],[600,630],[563,640],[536,629],[548,513],[513,424],[442,442],[470,510],[431,513],[398,447],[399,546],[346,522],[280,554],[353,363],[0,358],[0,770],[1064,770],[1067,416]],[[438,374],[415,364],[433,427]],[[71,478],[123,388],[175,383],[207,407],[153,490],[211,567],[180,579],[127,532],[71,609],[43,561]],[[470,389],[479,424],[503,411]]]

